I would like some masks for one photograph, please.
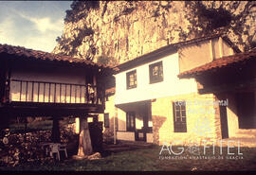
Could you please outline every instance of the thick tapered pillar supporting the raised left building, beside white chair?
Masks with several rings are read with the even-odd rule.
[[[93,152],[91,137],[88,127],[87,118],[80,117],[80,135],[78,156],[84,157]]]

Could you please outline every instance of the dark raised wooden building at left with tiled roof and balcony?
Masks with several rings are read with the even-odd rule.
[[[60,142],[62,117],[80,117],[82,131],[88,116],[104,112],[110,67],[7,44],[0,44],[0,67],[2,124],[17,116],[50,116],[52,141]]]

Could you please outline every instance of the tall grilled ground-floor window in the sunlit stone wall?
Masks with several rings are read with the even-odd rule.
[[[173,112],[174,112],[174,132],[187,132],[185,101],[173,102]]]

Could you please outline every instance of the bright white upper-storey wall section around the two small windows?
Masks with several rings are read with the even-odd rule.
[[[158,61],[163,63],[164,80],[150,84],[149,65]],[[137,88],[126,89],[126,73],[137,70]],[[166,56],[157,61],[152,61],[137,66],[116,75],[116,104],[153,99],[164,96],[176,96],[197,91],[194,79],[178,79],[179,74],[178,54]]]

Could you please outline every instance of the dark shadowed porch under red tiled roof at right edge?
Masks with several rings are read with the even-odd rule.
[[[227,100],[219,106],[221,138],[256,138],[256,49],[223,57],[179,75],[194,78],[199,94]],[[243,140],[242,139],[242,140]],[[247,142],[245,142],[247,143]]]

